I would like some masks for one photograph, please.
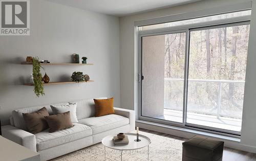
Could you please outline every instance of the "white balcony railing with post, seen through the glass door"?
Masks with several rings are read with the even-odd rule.
[[[164,81],[184,81],[184,79],[176,79],[176,78],[164,78]],[[189,82],[204,82],[204,83],[218,83],[218,99],[217,99],[217,118],[219,118],[220,116],[224,116],[223,114],[221,114],[221,99],[222,99],[222,85],[223,83],[233,83],[233,84],[244,84],[245,81],[236,81],[236,80],[209,80],[209,79],[188,79],[188,83]],[[199,109],[200,111],[200,109]],[[198,112],[198,111],[195,111]],[[200,113],[202,114],[211,114],[211,115],[215,115],[214,113],[210,113],[210,112],[206,112],[206,111],[200,111]],[[230,117],[230,116],[224,116],[224,117]]]

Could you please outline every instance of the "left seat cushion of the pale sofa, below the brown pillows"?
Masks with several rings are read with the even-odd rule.
[[[68,129],[49,133],[49,129],[35,134],[36,149],[41,151],[61,144],[69,143],[83,137],[92,135],[92,129],[89,126],[74,123],[74,126]]]

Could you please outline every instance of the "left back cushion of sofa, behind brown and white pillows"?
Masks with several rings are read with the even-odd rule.
[[[68,103],[58,103],[55,105],[65,105],[65,104],[67,105]],[[13,117],[14,126],[19,129],[23,129],[23,130],[27,131],[28,129],[26,127],[26,123],[25,123],[25,120],[23,119],[22,113],[32,113],[32,112],[35,112],[35,111],[41,109],[42,107],[46,107],[46,109],[50,115],[53,114],[50,105],[42,105],[42,106],[13,110],[12,117]]]

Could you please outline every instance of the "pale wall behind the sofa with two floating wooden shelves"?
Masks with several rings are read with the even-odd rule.
[[[102,96],[115,97],[119,107],[119,19],[42,0],[30,1],[30,9],[30,36],[0,36],[2,124],[22,107]],[[48,85],[41,98],[35,97],[33,87],[22,85],[32,72],[32,65],[19,64],[27,56],[70,62],[72,53],[87,56],[95,65],[46,66],[50,80],[69,81],[74,71],[81,71],[95,82]]]

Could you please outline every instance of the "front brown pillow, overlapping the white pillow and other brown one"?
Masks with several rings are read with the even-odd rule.
[[[55,132],[73,127],[70,119],[70,111],[46,116],[45,119],[50,127],[49,132]]]

